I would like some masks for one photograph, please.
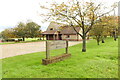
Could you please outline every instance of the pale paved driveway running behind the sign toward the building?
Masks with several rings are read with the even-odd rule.
[[[70,41],[69,46],[81,43],[80,41]],[[45,51],[45,41],[31,42],[31,43],[18,43],[18,44],[6,44],[0,45],[0,58],[12,57],[16,55],[23,55],[34,52]]]

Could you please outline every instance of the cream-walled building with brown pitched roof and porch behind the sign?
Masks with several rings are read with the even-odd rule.
[[[80,27],[75,27],[77,32],[81,33]],[[81,36],[76,33],[72,27],[68,27],[65,24],[51,22],[47,30],[42,33],[46,36],[46,40],[69,40],[80,41]]]

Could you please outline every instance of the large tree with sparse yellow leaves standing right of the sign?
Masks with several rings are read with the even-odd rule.
[[[80,2],[73,0],[67,3],[53,3],[52,8],[46,8],[41,6],[43,9],[50,10],[50,13],[44,16],[48,16],[47,20],[57,20],[60,22],[66,22],[73,29],[75,25],[78,25],[82,29],[82,33],[77,32],[82,37],[82,52],[86,52],[86,37],[93,25],[99,22],[100,18],[105,14],[110,13],[115,7],[106,12],[102,4],[95,4],[93,2]],[[104,13],[103,13],[104,12]]]

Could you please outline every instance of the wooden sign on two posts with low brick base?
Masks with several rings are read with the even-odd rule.
[[[60,56],[50,57],[50,50],[65,48],[66,52]],[[46,59],[43,59],[43,64],[47,65],[53,62],[61,61],[71,56],[68,54],[68,41],[46,41]]]

